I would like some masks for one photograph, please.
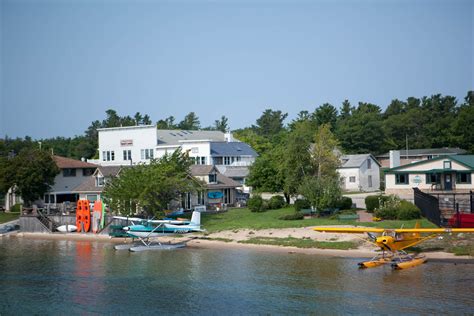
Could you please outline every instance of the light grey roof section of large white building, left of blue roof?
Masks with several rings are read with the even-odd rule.
[[[180,145],[186,140],[224,141],[225,134],[221,131],[186,131],[173,129],[157,129],[157,145]]]

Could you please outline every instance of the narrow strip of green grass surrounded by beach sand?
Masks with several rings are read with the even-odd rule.
[[[319,249],[356,249],[357,243],[352,241],[315,241],[312,239],[300,239],[294,237],[273,238],[253,237],[248,240],[239,241],[242,244],[273,245],[297,248],[319,248]]]

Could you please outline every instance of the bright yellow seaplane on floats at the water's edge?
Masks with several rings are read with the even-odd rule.
[[[404,251],[422,241],[446,233],[474,233],[474,228],[415,228],[385,229],[373,227],[316,227],[315,231],[328,233],[367,233],[369,241],[380,247],[382,253],[359,263],[361,268],[373,268],[390,263],[394,269],[407,269],[426,261],[424,255],[410,255]]]

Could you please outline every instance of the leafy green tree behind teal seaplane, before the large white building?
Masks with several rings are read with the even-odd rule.
[[[119,177],[106,184],[105,201],[124,214],[139,208],[162,217],[170,202],[197,190],[198,181],[189,175],[190,166],[188,155],[176,150],[148,165],[125,168]]]

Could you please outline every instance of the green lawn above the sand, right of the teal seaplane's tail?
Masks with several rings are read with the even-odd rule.
[[[356,221],[337,220],[329,218],[311,218],[304,220],[281,220],[279,217],[294,213],[293,207],[279,210],[269,210],[262,213],[252,213],[247,208],[230,209],[218,214],[202,214],[202,225],[209,232],[238,229],[267,229],[267,228],[297,228],[318,225],[358,225],[383,228],[413,228],[416,220],[411,221],[382,221],[360,223]],[[422,227],[436,227],[426,219],[422,219]]]

